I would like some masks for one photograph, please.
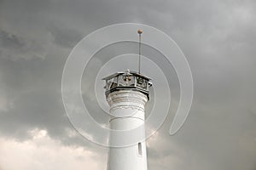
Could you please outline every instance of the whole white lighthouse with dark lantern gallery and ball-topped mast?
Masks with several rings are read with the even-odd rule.
[[[138,31],[140,39],[142,31]],[[141,43],[140,43],[141,46]],[[140,48],[140,47],[139,47]],[[139,50],[139,71],[117,72],[103,78],[106,81],[106,99],[110,106],[109,120],[110,127],[116,131],[127,131],[139,126],[143,130],[137,131],[142,139],[145,136],[144,120],[145,105],[149,99],[149,78],[140,73],[140,50]],[[135,135],[135,136],[136,136]],[[126,135],[121,139],[132,138]],[[120,141],[118,137],[110,133],[109,143],[113,147],[108,153],[108,170],[147,170],[147,152],[145,140],[138,141],[125,147],[114,147],[113,144]]]

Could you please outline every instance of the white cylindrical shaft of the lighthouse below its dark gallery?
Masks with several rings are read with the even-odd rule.
[[[147,96],[135,91],[122,90],[108,96],[110,114],[113,115],[110,127],[114,130],[128,130],[143,124],[144,105]],[[144,136],[145,132],[137,132]],[[125,138],[130,138],[126,136]],[[110,142],[115,140],[110,134]],[[122,148],[110,148],[108,153],[108,170],[147,170],[146,144],[141,142],[142,153],[139,153],[138,144]]]

